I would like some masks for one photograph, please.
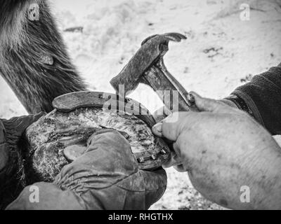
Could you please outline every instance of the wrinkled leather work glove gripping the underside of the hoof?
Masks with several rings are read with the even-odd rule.
[[[78,149],[79,150],[79,149]],[[7,209],[148,209],[166,189],[164,169],[145,171],[126,134],[97,130],[86,151],[66,165],[53,183],[33,183],[39,202],[30,202],[30,186]]]

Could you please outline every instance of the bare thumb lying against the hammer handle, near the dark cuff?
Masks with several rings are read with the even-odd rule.
[[[195,99],[195,105],[199,111],[205,112],[214,112],[214,113],[222,113],[222,112],[230,112],[230,107],[226,106],[221,102],[218,102],[216,99],[209,99],[201,97],[196,92],[190,92],[190,94]]]

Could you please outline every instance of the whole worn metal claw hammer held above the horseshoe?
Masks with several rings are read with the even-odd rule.
[[[181,83],[169,73],[163,57],[169,50],[169,41],[186,39],[182,34],[169,33],[150,36],[122,71],[110,80],[111,85],[125,97],[136,90],[139,83],[150,85],[170,111],[190,111],[194,99]]]

